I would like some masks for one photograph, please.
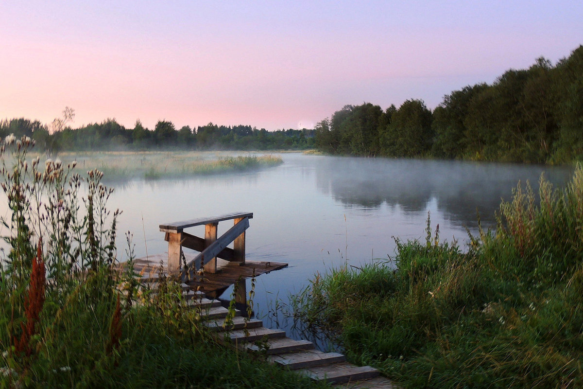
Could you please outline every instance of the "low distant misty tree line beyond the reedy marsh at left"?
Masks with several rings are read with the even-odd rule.
[[[115,119],[84,125],[67,126],[74,117],[67,107],[63,118],[51,125],[38,120],[14,118],[0,121],[0,136],[30,136],[49,153],[61,150],[149,150],[149,149],[221,149],[221,150],[301,150],[314,147],[313,129],[279,129],[267,131],[250,125],[224,126],[209,123],[191,128],[175,128],[173,122],[160,120],[153,130],[138,120],[134,128],[125,128]]]

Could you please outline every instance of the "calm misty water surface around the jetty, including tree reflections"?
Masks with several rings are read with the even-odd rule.
[[[465,244],[468,229],[494,227],[500,199],[519,180],[535,184],[544,171],[563,186],[573,169],[520,164],[281,155],[278,167],[180,180],[114,183],[111,208],[124,211],[120,231],[134,234],[142,257],[167,250],[160,223],[234,211],[254,212],[247,258],[287,262],[257,278],[255,311],[266,317],[319,272],[394,255],[392,237],[424,239],[427,212],[441,240]],[[219,223],[219,234],[231,224]],[[191,233],[203,235],[203,227]],[[120,246],[123,247],[120,241]],[[186,249],[188,250],[188,249]],[[121,249],[119,251],[122,251]],[[226,296],[228,297],[227,290]]]

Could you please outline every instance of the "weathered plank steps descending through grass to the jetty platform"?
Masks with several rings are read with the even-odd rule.
[[[313,380],[325,380],[336,387],[398,388],[391,380],[381,377],[374,367],[352,365],[340,353],[325,353],[315,349],[310,341],[287,338],[285,331],[266,328],[255,318],[244,318],[239,310],[235,311],[231,324],[225,326],[229,310],[219,300],[207,299],[205,293],[187,290],[187,285],[184,287],[189,306],[206,319],[205,325],[212,331],[224,332],[226,341],[240,349],[265,353],[271,363]]]

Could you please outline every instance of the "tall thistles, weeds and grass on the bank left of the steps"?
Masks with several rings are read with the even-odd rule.
[[[1,219],[10,248],[0,260],[0,388],[329,387],[224,345],[177,282],[139,285],[131,233],[125,255],[115,247],[120,211],[107,208],[103,172],[41,162],[33,145],[0,140],[10,211]]]

